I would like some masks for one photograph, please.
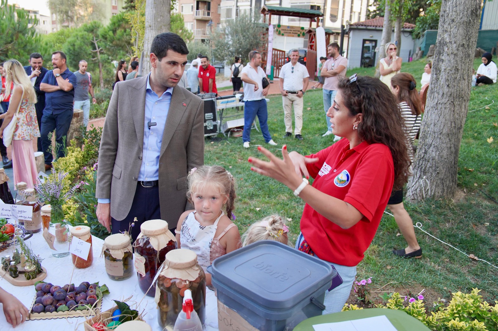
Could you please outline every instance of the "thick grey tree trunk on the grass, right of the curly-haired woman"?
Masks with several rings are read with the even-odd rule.
[[[431,83],[406,198],[452,198],[469,107],[480,0],[443,0]],[[465,13],[465,14],[462,14]],[[458,65],[448,65],[450,63]]]

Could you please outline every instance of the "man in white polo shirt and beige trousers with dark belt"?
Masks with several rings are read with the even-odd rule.
[[[282,93],[283,121],[285,123],[284,138],[292,136],[292,105],[294,105],[296,139],[303,140],[303,95],[308,88],[310,75],[305,66],[297,62],[299,51],[290,51],[290,62],[280,69],[280,92]]]

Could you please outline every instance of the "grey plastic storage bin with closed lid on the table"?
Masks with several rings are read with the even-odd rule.
[[[337,275],[329,263],[271,240],[217,258],[208,272],[218,300],[262,331],[292,330],[321,315]]]

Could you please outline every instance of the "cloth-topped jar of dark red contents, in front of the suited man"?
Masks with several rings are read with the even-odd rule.
[[[166,253],[176,249],[176,238],[168,230],[168,222],[163,220],[145,221],[140,226],[140,234],[136,238],[135,269],[138,285],[149,297],[155,295],[155,287],[151,286],[157,269],[164,262]]]

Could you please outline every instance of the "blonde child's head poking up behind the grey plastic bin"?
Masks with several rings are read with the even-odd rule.
[[[260,240],[274,240],[287,245],[289,229],[278,215],[271,215],[253,223],[242,235],[242,247]]]

